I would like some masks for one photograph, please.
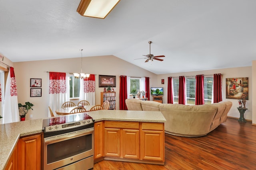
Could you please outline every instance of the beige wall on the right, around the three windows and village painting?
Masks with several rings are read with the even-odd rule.
[[[256,62],[255,62],[256,67]],[[256,68],[255,68],[256,69]],[[237,68],[225,68],[225,69],[216,69],[216,70],[202,70],[202,71],[194,71],[194,72],[180,72],[180,73],[172,73],[172,74],[161,74],[157,76],[157,85],[156,86],[163,86],[165,90],[165,95],[163,98],[163,103],[167,103],[167,81],[168,77],[177,77],[177,76],[196,76],[198,74],[218,74],[221,73],[222,75],[222,89],[223,89],[223,101],[230,101],[232,102],[232,107],[228,113],[230,117],[240,117],[240,113],[236,107],[238,107],[238,100],[236,99],[226,99],[226,78],[236,78],[236,77],[248,77],[249,81],[249,100],[246,102],[246,108],[248,110],[244,113],[244,118],[248,120],[252,120],[252,100],[253,100],[253,83],[252,83],[252,67],[237,67]],[[161,84],[161,80],[164,79],[164,84]],[[256,83],[256,82],[255,82]],[[254,95],[255,96],[255,95]],[[256,99],[255,99],[256,100]],[[255,106],[256,107],[256,106]],[[256,109],[256,108],[255,108]],[[254,120],[256,117],[254,118]]]

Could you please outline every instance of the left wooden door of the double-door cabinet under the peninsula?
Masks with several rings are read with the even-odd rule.
[[[105,128],[105,156],[120,157],[120,129]]]

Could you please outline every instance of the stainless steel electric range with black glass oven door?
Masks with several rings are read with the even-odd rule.
[[[86,113],[43,120],[44,170],[88,170],[94,161],[94,119]]]

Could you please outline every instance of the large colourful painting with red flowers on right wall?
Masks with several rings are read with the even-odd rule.
[[[226,78],[226,99],[248,100],[248,77]]]

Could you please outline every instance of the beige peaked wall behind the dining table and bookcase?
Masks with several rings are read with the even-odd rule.
[[[31,102],[35,106],[33,111],[29,111],[26,120],[45,118],[48,116],[48,90],[49,73],[51,72],[80,72],[81,58],[29,61],[14,63],[16,76],[18,102]],[[157,75],[144,70],[134,64],[128,63],[115,56],[83,57],[82,70],[84,73],[96,74],[96,104],[100,104],[100,92],[103,88],[98,87],[98,75],[116,76],[116,109],[119,109],[120,75],[150,77],[151,82],[155,82]],[[42,97],[30,97],[30,78],[42,78]],[[77,101],[75,102],[77,103]]]

